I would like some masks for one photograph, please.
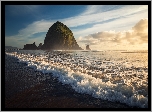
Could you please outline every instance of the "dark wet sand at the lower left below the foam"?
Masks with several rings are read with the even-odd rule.
[[[41,74],[16,59],[5,58],[5,108],[133,108],[77,93],[51,74],[50,79],[39,81]]]

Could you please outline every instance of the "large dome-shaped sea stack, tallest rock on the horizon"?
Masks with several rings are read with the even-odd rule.
[[[77,44],[72,31],[57,21],[48,30],[42,46],[44,50],[82,50]]]

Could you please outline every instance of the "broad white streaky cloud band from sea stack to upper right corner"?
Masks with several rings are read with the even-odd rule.
[[[123,31],[130,29],[134,24],[137,23],[141,18],[148,17],[148,8],[147,6],[141,6],[143,8],[133,8],[134,10],[130,13],[127,9],[132,8],[130,6],[122,7],[117,10],[111,10],[104,13],[100,13],[100,16],[96,16],[92,14],[93,17],[88,17],[94,21],[94,25],[90,28],[84,29],[73,29],[75,37],[86,36],[86,34],[91,34],[95,32],[115,30],[115,31]],[[136,9],[136,10],[135,10]],[[143,10],[142,10],[143,9]],[[135,13],[136,12],[136,13]],[[128,15],[127,15],[128,14]],[[102,19],[98,18],[102,17]],[[95,18],[95,19],[93,19]],[[97,19],[98,18],[98,19]],[[81,20],[77,20],[81,21]],[[86,19],[87,22],[87,19]],[[90,23],[89,23],[90,24]]]

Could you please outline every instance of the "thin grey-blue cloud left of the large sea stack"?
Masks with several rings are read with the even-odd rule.
[[[54,22],[55,21],[46,20],[33,22],[32,24],[29,24],[26,28],[19,30],[17,35],[6,36],[5,44],[23,48],[25,44],[36,42],[38,45],[39,43],[43,43],[46,32],[49,30],[50,26],[52,26]],[[35,39],[35,34],[37,33],[42,34],[39,36],[36,35],[37,37]]]

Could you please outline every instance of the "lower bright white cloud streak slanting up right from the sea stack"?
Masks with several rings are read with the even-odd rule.
[[[109,13],[110,14],[110,13]],[[138,17],[138,18],[137,18]],[[106,21],[103,23],[94,24],[91,28],[86,28],[83,30],[74,29],[73,32],[75,37],[86,36],[85,34],[91,34],[95,32],[115,30],[115,31],[124,31],[129,30],[131,27],[140,21],[143,17],[147,18],[147,13],[136,13],[126,17],[120,17],[115,20]]]

